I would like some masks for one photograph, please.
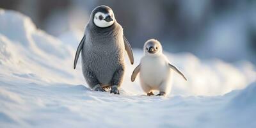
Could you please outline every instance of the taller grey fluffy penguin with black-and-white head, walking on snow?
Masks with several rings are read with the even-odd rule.
[[[74,69],[81,52],[84,79],[92,90],[120,94],[125,72],[125,51],[134,62],[131,45],[108,6],[93,9],[77,47]]]

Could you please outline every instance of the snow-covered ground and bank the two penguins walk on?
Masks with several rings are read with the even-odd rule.
[[[93,92],[81,65],[73,70],[83,33],[59,38],[17,12],[0,10],[0,127],[256,127],[256,72],[248,61],[199,60],[168,54],[186,74],[173,74],[172,94],[147,97],[127,61],[121,95]]]

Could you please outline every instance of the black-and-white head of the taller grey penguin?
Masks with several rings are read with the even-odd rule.
[[[93,12],[93,23],[99,28],[108,28],[115,22],[113,10],[108,6],[97,6]]]

